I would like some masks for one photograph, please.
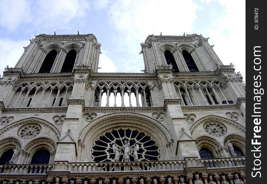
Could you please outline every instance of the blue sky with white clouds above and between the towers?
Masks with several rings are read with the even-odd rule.
[[[0,75],[39,34],[94,34],[98,72],[141,72],[149,35],[202,34],[245,81],[245,0],[0,0]]]

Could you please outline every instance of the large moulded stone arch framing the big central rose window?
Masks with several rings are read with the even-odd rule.
[[[172,141],[172,135],[167,128],[157,120],[139,113],[112,113],[95,119],[81,131],[79,139],[87,148],[87,158],[91,160],[90,150],[99,135],[113,128],[136,128],[153,137],[160,146],[161,158],[164,158],[166,144]],[[90,134],[90,137],[89,137]],[[162,135],[162,136],[154,136]],[[161,139],[164,137],[164,139]]]

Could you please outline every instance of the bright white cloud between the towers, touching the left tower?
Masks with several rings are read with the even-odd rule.
[[[99,56],[99,64],[98,67],[101,67],[98,69],[98,72],[115,72],[116,67],[114,66],[114,63],[111,61],[111,59],[105,55],[105,51],[101,50],[102,54]]]

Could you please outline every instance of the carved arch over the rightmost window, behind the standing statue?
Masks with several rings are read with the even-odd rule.
[[[238,135],[238,134],[230,134],[223,138],[222,144],[225,145],[227,140],[230,140],[233,146],[236,146],[239,149],[241,149],[243,154],[246,156],[246,138],[245,137]]]

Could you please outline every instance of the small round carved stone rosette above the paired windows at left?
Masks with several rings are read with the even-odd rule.
[[[19,128],[17,134],[22,139],[31,139],[41,132],[41,126],[36,123],[27,124]]]

